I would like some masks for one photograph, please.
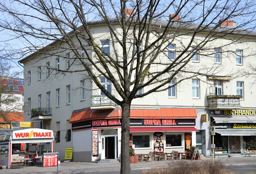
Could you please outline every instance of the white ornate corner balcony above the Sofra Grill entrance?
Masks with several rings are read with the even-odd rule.
[[[116,104],[105,95],[92,96],[91,109],[102,110],[102,109],[115,109]]]

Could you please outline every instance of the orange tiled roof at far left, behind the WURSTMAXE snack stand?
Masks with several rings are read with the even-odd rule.
[[[24,116],[21,112],[0,112],[0,122],[24,122]]]

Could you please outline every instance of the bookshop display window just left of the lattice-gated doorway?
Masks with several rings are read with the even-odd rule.
[[[212,136],[211,136],[211,141],[212,141]],[[216,133],[214,136],[214,144],[215,144],[214,154],[228,153],[228,136],[221,136],[221,134]]]

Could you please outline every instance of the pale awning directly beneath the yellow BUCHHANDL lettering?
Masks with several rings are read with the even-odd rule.
[[[218,115],[212,116],[215,120],[215,123],[256,123],[255,116],[226,116]]]

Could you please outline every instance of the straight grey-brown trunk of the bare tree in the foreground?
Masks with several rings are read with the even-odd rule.
[[[122,104],[122,131],[121,131],[121,171],[120,174],[130,174],[130,107],[131,102]]]

